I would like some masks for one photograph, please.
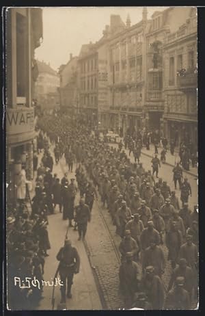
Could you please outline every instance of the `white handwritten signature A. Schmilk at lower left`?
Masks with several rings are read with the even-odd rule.
[[[21,280],[21,278],[19,278],[18,276],[14,276],[14,286],[15,287],[20,287],[20,289],[31,289],[31,287],[38,287],[38,289],[41,289],[41,287],[43,286],[46,287],[57,287],[58,285],[60,287],[64,286],[64,282],[61,281],[60,278],[55,278],[55,280],[53,280],[53,278],[51,278],[51,282],[50,281],[44,281],[44,280],[38,280],[36,278],[36,276],[34,276],[33,278],[29,278],[29,277],[25,277],[25,280]]]

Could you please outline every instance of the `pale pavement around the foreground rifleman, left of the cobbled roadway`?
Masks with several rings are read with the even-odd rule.
[[[53,146],[51,146],[51,155],[53,156]],[[40,155],[38,156],[40,160]],[[54,158],[54,157],[53,157]],[[62,159],[61,163],[64,162]],[[57,173],[57,176],[61,179],[64,176],[64,172],[67,171],[67,167],[61,168],[61,163],[53,165],[53,174]],[[62,170],[63,169],[63,170]],[[74,173],[69,172],[69,179]],[[68,221],[62,220],[62,213],[59,213],[56,207],[54,215],[49,215],[49,239],[51,242],[51,250],[49,250],[49,256],[45,258],[44,267],[44,280],[51,280],[57,269],[58,261],[56,259],[59,248],[64,246],[64,239],[66,229],[68,227]],[[100,310],[102,304],[98,294],[98,289],[94,279],[92,267],[90,266],[89,259],[83,244],[83,241],[78,241],[78,234],[73,228],[68,229],[68,238],[72,241],[72,246],[76,247],[79,256],[81,258],[80,272],[74,275],[72,286],[72,299],[66,300],[67,310]],[[44,287],[43,300],[40,301],[38,310],[51,310],[52,299],[51,287]],[[55,310],[60,302],[61,295],[59,287],[55,287]]]

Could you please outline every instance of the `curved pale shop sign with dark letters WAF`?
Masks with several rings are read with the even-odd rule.
[[[34,129],[34,111],[31,109],[7,109],[6,130],[8,135],[28,133]]]

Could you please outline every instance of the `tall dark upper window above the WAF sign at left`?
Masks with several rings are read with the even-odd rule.
[[[26,95],[26,51],[27,20],[16,13],[16,82],[17,97]]]

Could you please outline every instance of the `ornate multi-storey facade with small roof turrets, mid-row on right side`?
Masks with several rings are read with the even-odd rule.
[[[146,23],[146,10],[143,10],[142,21],[132,27],[128,16],[126,28],[109,40],[106,127],[121,135],[133,134],[143,125]]]

